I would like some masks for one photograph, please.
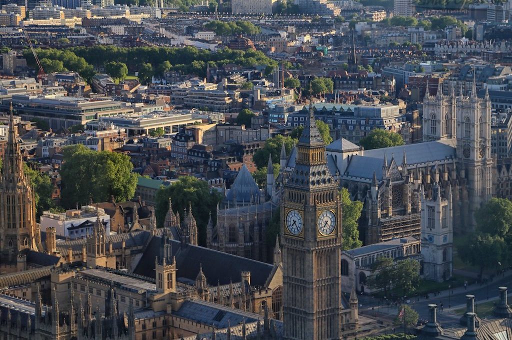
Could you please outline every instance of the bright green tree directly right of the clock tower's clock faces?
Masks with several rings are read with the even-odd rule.
[[[359,240],[357,221],[361,217],[362,202],[352,201],[347,188],[340,190],[340,196],[343,207],[343,250],[359,248],[362,241]]]

